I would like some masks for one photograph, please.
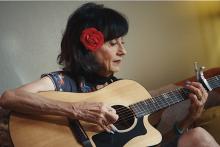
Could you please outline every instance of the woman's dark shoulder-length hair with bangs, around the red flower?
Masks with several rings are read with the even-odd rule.
[[[105,42],[124,36],[128,32],[128,22],[119,12],[103,5],[86,3],[70,15],[61,42],[61,53],[57,60],[63,70],[74,75],[94,74],[101,66],[94,54],[80,42],[81,32],[94,27],[104,35]]]

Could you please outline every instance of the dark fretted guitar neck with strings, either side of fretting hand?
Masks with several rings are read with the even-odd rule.
[[[220,75],[207,79],[207,82],[212,89],[220,87]],[[190,91],[185,88],[176,88],[175,90],[163,93],[159,96],[132,104],[129,107],[132,109],[135,116],[139,118],[182,102],[189,93]]]

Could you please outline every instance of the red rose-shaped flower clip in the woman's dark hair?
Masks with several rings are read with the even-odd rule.
[[[80,41],[86,49],[95,52],[104,44],[104,35],[96,28],[86,28],[82,31]]]

